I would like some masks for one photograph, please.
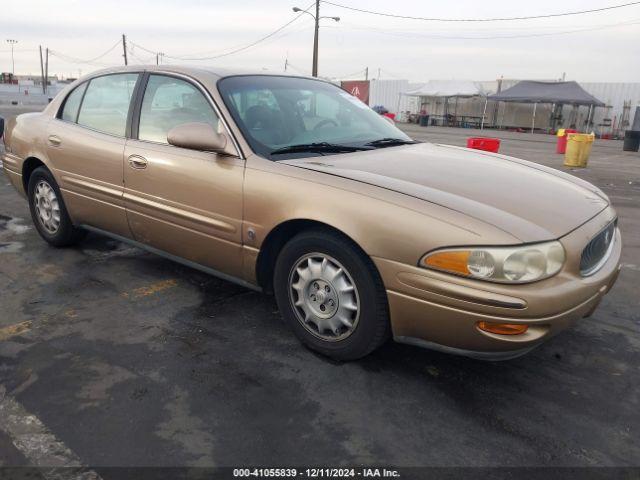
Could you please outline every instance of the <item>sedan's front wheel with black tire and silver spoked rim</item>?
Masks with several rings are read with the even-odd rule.
[[[340,234],[310,230],[293,237],[278,255],[274,291],[282,316],[300,341],[330,358],[364,357],[389,337],[380,274]]]

